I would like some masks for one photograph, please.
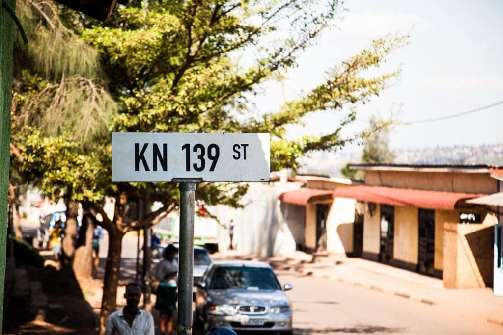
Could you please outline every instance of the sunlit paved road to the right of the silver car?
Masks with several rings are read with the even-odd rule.
[[[310,276],[278,273],[294,315],[295,334],[501,334],[503,327],[474,322],[442,306]]]

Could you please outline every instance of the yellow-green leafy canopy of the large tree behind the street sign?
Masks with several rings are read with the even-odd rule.
[[[100,66],[93,73],[71,72],[87,66],[71,56],[67,59],[73,67],[62,66],[64,74],[45,76],[23,63],[13,120],[19,130],[34,135],[28,144],[22,136],[16,138],[21,171],[47,190],[71,185],[80,198],[149,188],[152,198],[171,201],[178,196],[171,184],[111,183],[108,132],[269,133],[273,171],[297,168],[296,159],[308,151],[333,150],[369,136],[341,133],[356,117],[353,107],[369,102],[399,74],[369,76],[368,70],[403,46],[405,37],[373,41],[279,110],[260,116],[250,110],[249,97],[296,66],[302,51],[336,25],[339,11],[336,0],[176,0],[132,1],[107,24],[65,17],[73,29],[61,35],[65,43],[71,48],[84,44],[85,55],[92,47]],[[43,25],[51,31],[51,23]],[[45,41],[42,35],[36,37]],[[90,80],[95,76],[104,79]],[[287,139],[288,125],[319,111],[342,120],[331,134]],[[237,206],[244,192],[242,185],[208,184],[198,196],[207,203]]]

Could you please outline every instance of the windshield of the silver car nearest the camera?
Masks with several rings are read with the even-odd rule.
[[[281,290],[281,286],[269,268],[218,267],[210,289]]]

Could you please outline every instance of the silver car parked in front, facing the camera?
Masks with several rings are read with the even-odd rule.
[[[205,328],[292,333],[292,309],[271,266],[263,262],[218,261],[198,283],[196,320]]]

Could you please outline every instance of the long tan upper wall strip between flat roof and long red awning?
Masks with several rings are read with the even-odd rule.
[[[365,171],[365,184],[444,192],[494,193],[497,182],[489,173]]]

